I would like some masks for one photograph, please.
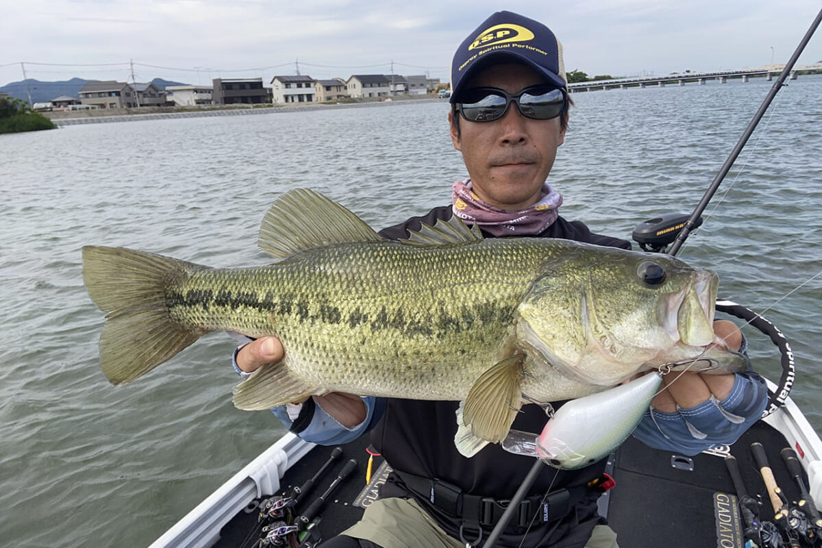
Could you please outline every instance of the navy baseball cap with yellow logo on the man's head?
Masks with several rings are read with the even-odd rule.
[[[496,12],[459,44],[451,62],[450,102],[459,102],[471,76],[504,60],[524,62],[557,87],[568,85],[562,44],[551,29],[513,12]]]

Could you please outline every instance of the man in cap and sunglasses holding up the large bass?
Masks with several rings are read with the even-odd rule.
[[[457,214],[478,223],[486,237],[562,237],[630,248],[629,242],[593,234],[557,214],[561,196],[546,179],[565,139],[568,96],[561,45],[551,30],[514,13],[495,13],[459,46],[451,72],[450,135],[469,179],[454,184],[450,205],[386,228],[384,237],[402,239],[407,229]],[[734,325],[718,323],[715,329],[739,348],[741,334]],[[278,361],[283,352],[278,339],[261,338],[235,352],[235,366],[247,375]],[[765,394],[751,373],[681,375],[654,399],[657,411],[638,432],[654,446],[696,453],[741,435],[760,416]],[[318,443],[342,443],[372,430],[372,444],[395,470],[363,521],[325,546],[481,544],[533,459],[506,453],[497,444],[462,457],[453,443],[456,407],[455,402],[327,394],[275,409],[291,431]],[[688,421],[680,414],[686,408],[696,408]],[[526,405],[512,427],[538,432],[545,421],[541,408]],[[598,517],[601,493],[588,487],[603,468],[600,462],[575,471],[543,470],[501,546],[617,546],[616,535]],[[549,511],[538,512],[546,493]]]

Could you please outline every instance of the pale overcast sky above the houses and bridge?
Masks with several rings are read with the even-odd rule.
[[[492,12],[548,25],[589,76],[786,62],[820,0],[28,0],[3,2],[0,85],[29,78],[197,84],[216,77],[428,74]],[[822,61],[822,30],[799,63]],[[42,63],[42,64],[35,64]],[[82,66],[116,63],[110,66]],[[67,65],[67,66],[60,66]]]

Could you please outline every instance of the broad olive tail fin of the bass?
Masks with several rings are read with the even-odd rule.
[[[113,385],[145,375],[205,334],[173,320],[165,302],[169,281],[204,268],[123,247],[83,247],[83,283],[107,313],[100,365]]]

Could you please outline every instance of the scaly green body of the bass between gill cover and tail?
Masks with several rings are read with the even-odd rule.
[[[561,246],[539,243],[330,247],[259,268],[203,269],[169,286],[167,303],[192,329],[278,335],[289,368],[309,383],[459,399],[499,359],[516,307]]]

